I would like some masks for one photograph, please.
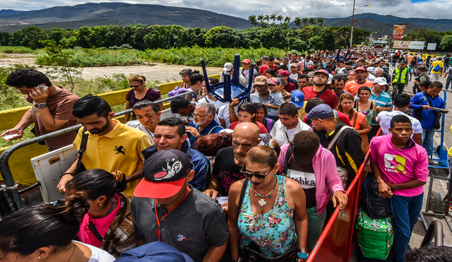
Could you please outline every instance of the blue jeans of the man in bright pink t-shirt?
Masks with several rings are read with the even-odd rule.
[[[408,249],[412,229],[415,227],[417,219],[422,209],[422,198],[419,196],[397,196],[391,198],[393,202],[394,222],[396,222],[394,232],[393,251],[396,261],[404,262],[403,254]]]

